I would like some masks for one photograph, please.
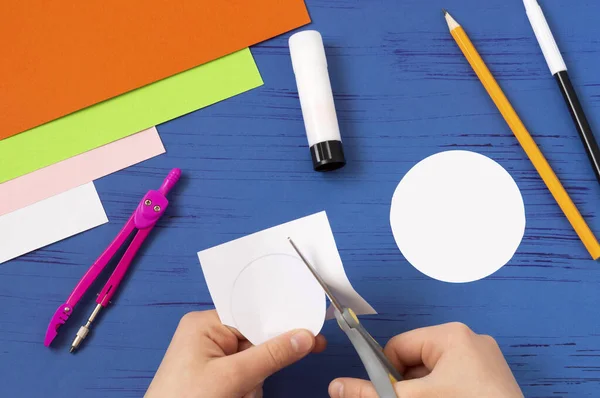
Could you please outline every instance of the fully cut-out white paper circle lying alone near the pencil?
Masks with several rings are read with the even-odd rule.
[[[425,275],[472,282],[502,268],[525,233],[519,187],[498,163],[468,151],[430,156],[392,198],[390,223],[406,260]]]

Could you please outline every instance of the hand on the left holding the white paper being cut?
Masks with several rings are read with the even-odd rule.
[[[192,312],[181,319],[146,397],[259,398],[267,377],[325,345],[323,336],[297,330],[254,347],[215,311]]]

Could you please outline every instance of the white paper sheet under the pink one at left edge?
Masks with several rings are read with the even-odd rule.
[[[5,214],[0,216],[0,264],[106,222],[93,182]]]

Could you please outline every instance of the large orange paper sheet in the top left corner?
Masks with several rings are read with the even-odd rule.
[[[308,22],[303,0],[2,1],[0,139]]]

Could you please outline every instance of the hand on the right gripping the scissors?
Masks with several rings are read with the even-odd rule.
[[[413,330],[391,339],[385,355],[404,374],[399,398],[522,398],[500,348],[460,323]],[[332,398],[377,398],[365,380],[336,379]]]

